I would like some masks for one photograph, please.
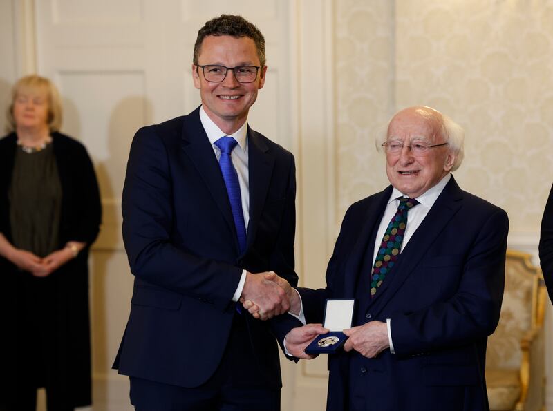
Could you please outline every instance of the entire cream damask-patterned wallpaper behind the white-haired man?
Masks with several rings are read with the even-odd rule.
[[[460,186],[537,233],[553,182],[553,1],[335,2],[338,218],[388,183],[374,144],[424,104],[465,128]],[[339,224],[339,221],[337,222]]]

